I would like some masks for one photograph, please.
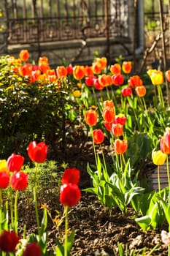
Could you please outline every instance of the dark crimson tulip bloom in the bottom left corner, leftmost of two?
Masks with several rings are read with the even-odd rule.
[[[3,252],[15,252],[20,238],[14,231],[6,231],[0,235],[0,249]]]

